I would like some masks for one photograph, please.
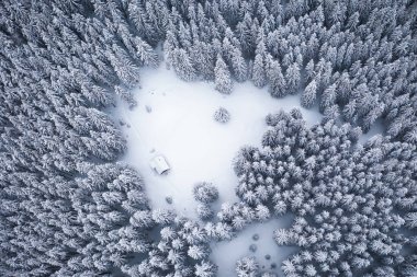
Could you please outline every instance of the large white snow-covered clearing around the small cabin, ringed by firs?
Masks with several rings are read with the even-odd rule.
[[[143,175],[154,208],[171,207],[190,218],[196,217],[193,185],[212,182],[219,189],[218,203],[235,201],[237,176],[232,161],[237,151],[245,145],[260,146],[269,113],[300,107],[300,96],[272,99],[267,89],[250,82],[237,83],[230,95],[223,95],[213,83],[181,81],[165,65],[144,69],[142,80],[142,89],[134,92],[138,106],[128,109],[120,103],[113,111],[116,119],[126,123],[124,160]],[[213,119],[221,106],[230,113],[226,124]],[[315,111],[301,111],[308,125],[320,118]],[[150,169],[149,160],[156,154],[164,154],[170,164],[167,175]],[[172,197],[172,205],[166,196]]]

